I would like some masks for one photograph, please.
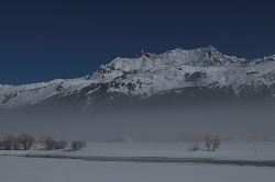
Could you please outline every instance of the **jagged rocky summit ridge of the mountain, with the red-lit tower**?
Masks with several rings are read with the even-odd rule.
[[[242,59],[237,57],[226,56],[213,46],[197,48],[197,49],[182,49],[175,48],[166,53],[156,55],[153,53],[142,53],[134,58],[116,58],[107,65],[101,65],[98,70],[89,76],[91,79],[95,75],[114,73],[116,76],[123,72],[136,71],[153,71],[167,66],[191,66],[191,67],[220,67],[230,64],[240,64]],[[107,76],[103,76],[105,78]]]

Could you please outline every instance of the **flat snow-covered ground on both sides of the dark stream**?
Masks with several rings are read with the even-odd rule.
[[[216,152],[187,151],[194,143],[88,144],[81,151],[0,151],[0,182],[50,181],[273,181],[274,168],[235,164],[89,161],[20,157],[29,155],[211,158],[219,160],[275,160],[275,143],[222,143]],[[204,144],[200,144],[204,147]]]

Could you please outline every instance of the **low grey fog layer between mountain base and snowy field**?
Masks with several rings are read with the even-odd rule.
[[[120,106],[87,112],[24,111],[0,115],[0,137],[22,133],[107,141],[130,136],[133,141],[170,141],[204,134],[275,136],[274,104]]]

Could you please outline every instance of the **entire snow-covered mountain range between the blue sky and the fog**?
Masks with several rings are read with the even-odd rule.
[[[148,100],[164,95],[180,101],[273,100],[275,55],[245,59],[208,46],[118,57],[81,78],[16,87],[0,84],[0,110],[64,102],[85,109],[121,98]]]

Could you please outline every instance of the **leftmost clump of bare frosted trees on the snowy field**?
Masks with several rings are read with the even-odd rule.
[[[37,144],[37,139],[33,135],[21,134],[20,136],[6,136],[0,140],[0,149],[2,150],[30,150]]]

